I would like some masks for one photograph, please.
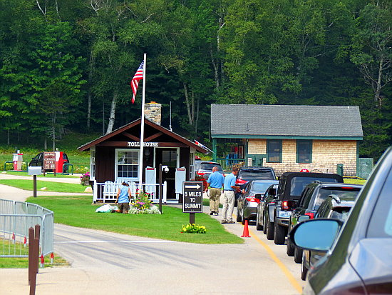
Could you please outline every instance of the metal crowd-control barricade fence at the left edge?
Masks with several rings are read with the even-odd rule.
[[[29,227],[39,224],[43,256],[53,253],[53,212],[36,204],[0,199],[0,256],[25,257]],[[28,253],[28,252],[27,252]]]

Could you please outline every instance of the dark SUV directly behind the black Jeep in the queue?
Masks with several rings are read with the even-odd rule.
[[[354,199],[361,191],[362,186],[355,184],[336,184],[336,183],[322,183],[321,181],[314,181],[308,184],[304,191],[302,191],[301,198],[292,212],[289,219],[289,232],[296,224],[301,216],[309,216],[314,218],[314,214],[319,209],[320,204],[327,198],[327,196],[334,194],[335,196],[352,196]],[[302,250],[296,248],[287,241],[287,255],[294,256],[294,261],[299,264],[302,261]]]

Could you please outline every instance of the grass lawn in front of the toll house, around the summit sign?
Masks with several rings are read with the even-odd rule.
[[[181,233],[182,225],[189,223],[189,214],[171,206],[163,206],[162,215],[133,215],[96,213],[98,206],[91,205],[91,196],[38,196],[27,201],[53,211],[54,221],[58,224],[197,244],[244,242],[207,214],[199,213],[195,216],[195,223],[206,226],[207,234]]]

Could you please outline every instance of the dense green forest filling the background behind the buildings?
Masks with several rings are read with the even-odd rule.
[[[0,0],[0,135],[46,148],[70,130],[104,134],[138,119],[141,91],[130,104],[129,82],[145,52],[146,101],[163,104],[166,127],[172,101],[177,133],[208,142],[212,103],[358,105],[360,156],[377,158],[392,135],[391,7]]]

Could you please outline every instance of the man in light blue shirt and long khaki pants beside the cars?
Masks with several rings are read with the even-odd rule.
[[[232,169],[232,173],[225,178],[225,191],[223,191],[223,211],[222,211],[222,224],[235,224],[232,218],[234,210],[234,191],[239,190],[239,186],[235,185],[238,168]]]

